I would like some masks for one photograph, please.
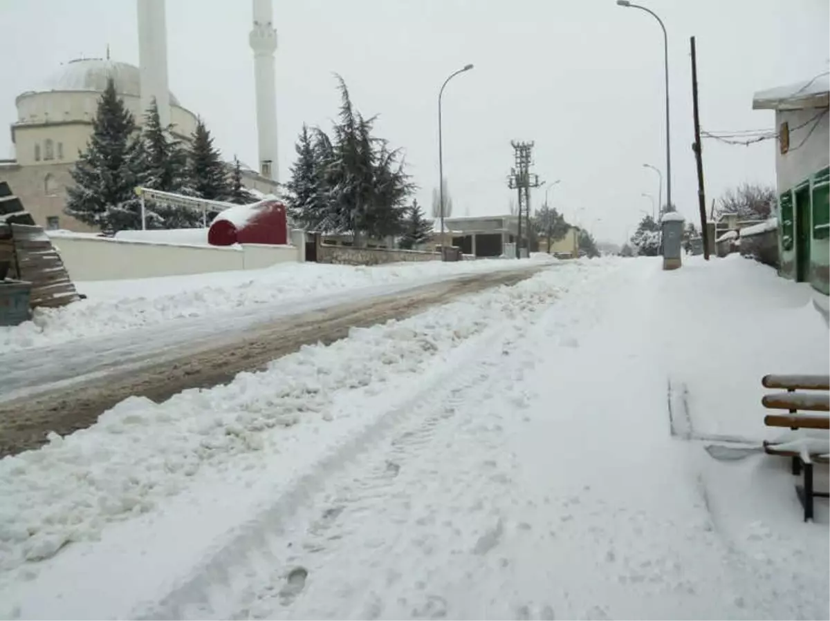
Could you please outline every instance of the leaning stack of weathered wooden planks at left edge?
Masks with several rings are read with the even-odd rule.
[[[81,299],[61,255],[40,226],[12,224],[5,228],[6,239],[0,239],[0,253],[3,241],[6,248],[11,241],[14,258],[8,275],[32,283],[32,308],[65,306]]]

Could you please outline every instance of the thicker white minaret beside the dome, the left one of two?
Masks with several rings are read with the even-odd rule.
[[[167,21],[164,0],[138,0],[141,114],[153,98],[159,105],[161,126],[170,124],[170,86],[167,77]]]

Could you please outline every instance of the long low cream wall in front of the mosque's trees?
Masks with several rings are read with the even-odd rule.
[[[261,269],[302,260],[295,246],[247,244],[220,248],[72,235],[54,235],[52,243],[76,281]]]

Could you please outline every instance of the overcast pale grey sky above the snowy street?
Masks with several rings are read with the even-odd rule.
[[[759,129],[755,90],[830,70],[828,0],[643,0],[669,31],[674,200],[696,214],[691,153],[689,36],[697,36],[704,129]],[[378,134],[407,153],[427,209],[437,186],[437,92],[444,97],[444,162],[454,215],[504,213],[510,140],[535,140],[535,172],[561,179],[552,202],[603,239],[622,241],[642,192],[664,167],[662,34],[614,0],[274,0],[280,41],[277,99],[281,176],[303,122],[327,128],[347,81]],[[170,87],[200,114],[228,157],[256,163],[247,0],[168,0]],[[138,64],[134,0],[0,0],[0,121],[14,98],[80,56]],[[11,148],[8,132],[0,153]],[[710,198],[740,182],[773,182],[774,143],[705,143]],[[535,192],[539,206],[543,192]],[[578,211],[581,208],[582,211]],[[578,216],[577,216],[578,214]],[[601,221],[596,221],[601,218]]]

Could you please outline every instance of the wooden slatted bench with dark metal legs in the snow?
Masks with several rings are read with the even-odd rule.
[[[769,410],[788,410],[787,414],[770,414],[764,417],[764,424],[769,427],[788,429],[830,429],[830,415],[799,414],[806,412],[830,412],[830,376],[765,376],[761,381],[765,388],[779,389],[786,392],[764,395],[761,402]],[[808,392],[798,392],[808,391]],[[830,441],[830,434],[828,434]],[[822,452],[805,453],[793,448],[777,448],[785,443],[764,442],[764,450],[770,455],[792,458],[793,475],[803,471],[803,486],[796,486],[798,499],[804,507],[804,522],[813,519],[813,500],[830,498],[830,493],[816,492],[813,488],[813,463],[830,463],[830,449]],[[789,443],[786,443],[789,444]]]

